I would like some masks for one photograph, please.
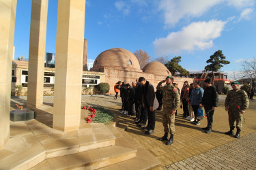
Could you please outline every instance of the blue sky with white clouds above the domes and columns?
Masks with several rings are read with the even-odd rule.
[[[256,57],[255,0],[87,0],[88,58],[110,48],[145,50],[151,60],[182,56],[189,71],[203,70],[216,50],[239,71],[240,61]],[[29,56],[31,0],[18,0],[15,59]],[[57,0],[48,1],[46,52],[55,53]]]

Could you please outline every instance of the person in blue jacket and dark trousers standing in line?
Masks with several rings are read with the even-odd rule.
[[[189,101],[192,105],[194,114],[195,114],[195,120],[192,122],[195,125],[200,125],[200,120],[197,119],[197,110],[199,107],[202,107],[202,99],[203,99],[203,88],[200,87],[201,82],[195,82],[194,83],[194,89],[191,92],[191,95],[189,97]]]

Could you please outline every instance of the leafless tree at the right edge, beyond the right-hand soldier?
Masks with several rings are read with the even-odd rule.
[[[242,76],[243,78],[251,79],[251,86],[256,85],[256,58],[242,61]]]

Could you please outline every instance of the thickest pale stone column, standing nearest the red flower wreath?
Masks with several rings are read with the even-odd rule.
[[[79,129],[85,0],[58,2],[53,128]]]

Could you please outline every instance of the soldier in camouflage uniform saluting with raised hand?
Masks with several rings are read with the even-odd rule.
[[[165,86],[162,86],[162,83],[166,83]],[[157,90],[162,90],[162,125],[164,126],[165,135],[160,137],[158,140],[165,141],[167,140],[167,145],[173,143],[173,135],[175,134],[175,112],[177,106],[180,104],[180,95],[177,91],[177,88],[172,85],[173,76],[167,76],[166,80],[162,80],[156,86]],[[171,134],[170,139],[168,139],[168,133]]]

